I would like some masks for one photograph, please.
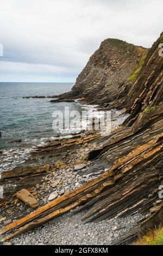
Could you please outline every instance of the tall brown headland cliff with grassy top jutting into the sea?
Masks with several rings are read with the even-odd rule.
[[[118,39],[106,39],[90,57],[71,92],[61,98],[83,98],[90,104],[115,100],[122,86],[139,69],[147,49]]]

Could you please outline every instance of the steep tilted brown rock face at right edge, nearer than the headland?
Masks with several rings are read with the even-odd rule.
[[[159,108],[163,101],[163,57],[159,56],[159,44],[163,43],[163,33],[149,50],[145,63],[131,87],[127,100],[127,112],[131,115],[125,124],[131,126],[139,112],[150,113],[152,108]]]

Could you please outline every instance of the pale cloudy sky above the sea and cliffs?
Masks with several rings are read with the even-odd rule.
[[[106,38],[151,47],[162,13],[162,0],[0,0],[0,81],[75,82]]]

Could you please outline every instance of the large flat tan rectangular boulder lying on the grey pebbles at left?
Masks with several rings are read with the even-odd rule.
[[[37,202],[35,197],[32,194],[30,194],[27,189],[23,188],[20,191],[18,191],[16,193],[16,197],[32,208],[36,208],[39,206],[39,203]]]

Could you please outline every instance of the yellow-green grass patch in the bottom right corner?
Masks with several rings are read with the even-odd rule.
[[[141,237],[136,245],[163,245],[163,228],[149,230],[147,235]]]

